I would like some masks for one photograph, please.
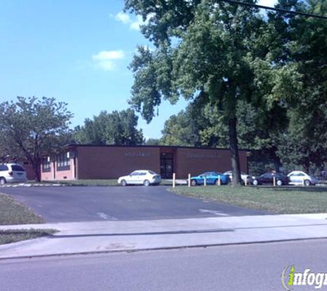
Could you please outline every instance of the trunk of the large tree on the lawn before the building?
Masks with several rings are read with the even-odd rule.
[[[231,150],[231,166],[233,170],[232,185],[241,185],[240,157],[238,154],[238,135],[236,132],[236,117],[229,118],[229,148]]]

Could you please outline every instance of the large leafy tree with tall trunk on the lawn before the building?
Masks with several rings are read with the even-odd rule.
[[[180,97],[201,99],[203,106],[221,110],[233,183],[240,183],[238,101],[251,99],[255,107],[271,110],[296,83],[293,68],[275,66],[267,56],[267,23],[255,8],[223,1],[125,0],[125,9],[148,20],[142,31],[156,47],[139,47],[134,56],[129,102],[148,122],[162,98],[171,103]]]

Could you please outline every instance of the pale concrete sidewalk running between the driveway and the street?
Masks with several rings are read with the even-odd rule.
[[[326,218],[286,214],[0,226],[59,230],[52,237],[0,245],[0,259],[327,238]]]

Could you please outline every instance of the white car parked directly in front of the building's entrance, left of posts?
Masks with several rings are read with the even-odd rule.
[[[127,176],[120,177],[118,183],[122,186],[125,185],[145,185],[149,186],[151,184],[159,185],[161,182],[161,176],[156,174],[156,172],[151,170],[136,170],[131,172]]]

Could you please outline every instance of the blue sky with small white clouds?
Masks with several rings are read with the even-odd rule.
[[[261,1],[271,5],[273,0]],[[123,0],[0,1],[0,102],[55,97],[74,113],[72,127],[101,110],[129,108],[133,77],[127,66],[137,45],[148,45],[140,19],[123,14]],[[161,136],[165,120],[187,102],[165,101],[159,116],[138,128]]]

